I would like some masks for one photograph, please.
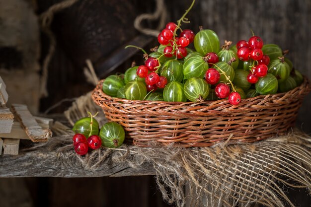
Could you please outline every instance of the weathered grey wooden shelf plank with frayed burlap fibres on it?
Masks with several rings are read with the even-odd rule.
[[[0,156],[0,177],[102,177],[154,175],[154,168],[146,163],[141,167],[132,168],[128,162],[115,162],[118,151],[112,152],[95,170],[85,169],[74,151],[74,146],[66,151],[51,149],[54,143],[51,138],[46,143],[34,143],[42,146],[29,150],[20,149],[18,155]],[[71,141],[71,136],[62,137],[65,143]],[[104,150],[104,149],[101,149]]]

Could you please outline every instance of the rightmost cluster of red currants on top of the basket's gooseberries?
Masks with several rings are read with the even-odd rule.
[[[241,61],[252,59],[258,63],[258,65],[253,65],[250,68],[250,73],[247,75],[247,81],[250,83],[256,83],[259,77],[264,77],[268,73],[270,58],[267,55],[263,55],[262,47],[263,41],[258,36],[250,37],[248,42],[240,40],[236,44],[237,57]]]

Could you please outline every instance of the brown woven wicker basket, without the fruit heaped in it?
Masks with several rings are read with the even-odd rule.
[[[103,81],[93,90],[93,101],[109,121],[124,127],[127,141],[138,146],[156,141],[203,147],[284,135],[295,125],[298,110],[310,92],[310,82],[305,78],[291,91],[243,99],[237,106],[224,99],[201,103],[139,101],[106,95]]]

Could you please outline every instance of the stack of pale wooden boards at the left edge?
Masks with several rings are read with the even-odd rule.
[[[52,119],[34,117],[26,105],[12,104],[6,107],[8,94],[0,77],[0,154],[18,154],[20,139],[33,142],[47,141],[52,137],[49,129]],[[22,95],[22,94],[21,94]]]

